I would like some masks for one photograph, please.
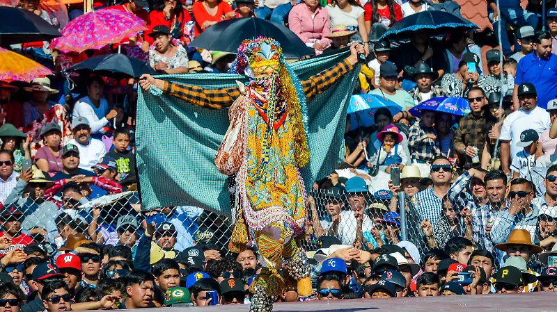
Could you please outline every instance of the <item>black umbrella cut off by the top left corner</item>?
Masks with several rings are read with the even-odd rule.
[[[0,45],[50,41],[62,34],[35,13],[0,6]]]

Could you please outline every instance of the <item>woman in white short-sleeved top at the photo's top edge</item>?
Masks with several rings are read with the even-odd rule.
[[[363,8],[355,0],[334,0],[327,6],[331,19],[331,29],[336,25],[345,25],[349,31],[358,31],[350,38],[351,41],[363,42],[366,56],[370,53],[368,32],[363,22]]]

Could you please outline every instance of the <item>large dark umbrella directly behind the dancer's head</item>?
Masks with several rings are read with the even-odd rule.
[[[256,17],[227,19],[205,29],[189,45],[210,51],[237,53],[244,40],[259,36],[273,38],[283,48],[285,58],[301,58],[314,54],[301,39],[283,25]]]

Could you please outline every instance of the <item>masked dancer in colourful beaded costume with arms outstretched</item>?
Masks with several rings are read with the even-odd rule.
[[[308,261],[295,240],[306,221],[307,197],[299,172],[310,158],[306,101],[334,85],[364,52],[360,44],[350,51],[338,65],[299,81],[280,44],[258,38],[242,42],[230,69],[248,76],[246,85],[210,90],[148,74],[139,81],[154,95],[164,92],[206,108],[230,106],[230,126],[215,164],[221,173],[235,175],[230,252],[245,250],[252,236],[261,254],[263,268],[251,285],[250,311],[272,310],[274,297],[282,295],[285,286],[277,272],[281,265],[297,281],[301,297],[311,294]]]

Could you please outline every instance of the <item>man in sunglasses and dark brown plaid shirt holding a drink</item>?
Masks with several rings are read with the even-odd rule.
[[[471,112],[458,122],[455,136],[455,150],[464,156],[464,169],[480,167],[480,162],[473,163],[476,155],[481,158],[485,147],[487,132],[485,129],[486,115],[483,106],[487,104],[485,92],[482,88],[473,87],[468,92],[468,104]]]

